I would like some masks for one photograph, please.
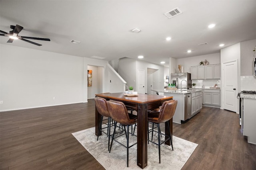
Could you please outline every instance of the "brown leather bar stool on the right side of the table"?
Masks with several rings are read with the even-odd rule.
[[[172,135],[171,135],[171,132],[170,132],[169,120],[172,119],[172,117],[175,113],[177,104],[178,104],[177,100],[168,100],[168,101],[165,101],[162,104],[162,107],[161,107],[160,111],[151,111],[151,112],[148,113],[148,122],[153,123],[152,129],[148,133],[152,132],[152,135],[153,135],[153,132],[158,132],[158,143],[150,141],[149,139],[148,139],[148,141],[158,145],[159,163],[161,163],[160,145],[162,145],[163,143],[165,143],[168,140],[170,140],[171,145],[172,145]],[[160,125],[159,124],[164,123],[166,121],[168,123],[168,131],[169,131],[170,136],[168,136],[164,133],[161,133],[161,130],[160,130]],[[154,131],[154,124],[157,124],[158,131]],[[160,141],[160,134],[162,134],[164,136],[167,136],[168,138],[165,141],[161,142]],[[173,146],[172,146],[172,150],[173,150]]]

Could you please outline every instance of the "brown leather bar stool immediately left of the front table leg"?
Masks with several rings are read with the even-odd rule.
[[[113,141],[116,141],[117,143],[125,147],[127,152],[127,167],[128,167],[129,166],[129,148],[137,144],[137,143],[134,143],[133,145],[129,146],[129,134],[132,134],[129,132],[129,126],[137,123],[137,115],[129,114],[123,102],[109,100],[107,101],[107,105],[108,105],[110,116],[115,121],[114,132],[112,135],[112,141],[110,144],[109,152],[111,150]],[[115,137],[117,123],[121,123],[126,127],[124,126],[125,133]],[[127,131],[126,131],[126,128],[127,128]],[[127,139],[126,146],[116,140],[118,137],[121,137],[122,135],[126,135],[126,139]]]

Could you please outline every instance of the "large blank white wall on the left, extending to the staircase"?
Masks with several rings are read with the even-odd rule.
[[[98,93],[123,91],[123,84],[108,84],[114,80],[108,61],[4,44],[0,48],[0,111],[87,102],[88,65],[96,66]]]

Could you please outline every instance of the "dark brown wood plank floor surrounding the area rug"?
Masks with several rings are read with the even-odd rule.
[[[104,169],[71,134],[93,127],[94,122],[93,99],[0,112],[0,169]],[[190,121],[174,123],[173,131],[198,144],[184,170],[256,169],[256,145],[247,143],[234,112],[203,107]]]

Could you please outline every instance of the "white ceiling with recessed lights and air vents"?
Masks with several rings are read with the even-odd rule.
[[[176,7],[183,13],[164,16]],[[210,23],[216,27],[209,29]],[[107,61],[144,55],[144,61],[168,66],[169,57],[219,53],[256,39],[256,0],[1,0],[0,30],[9,32],[16,24],[24,27],[21,36],[51,41],[31,40],[39,47],[20,40],[6,43],[8,37],[1,36],[2,44]]]

